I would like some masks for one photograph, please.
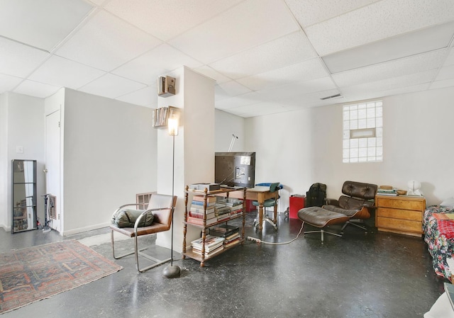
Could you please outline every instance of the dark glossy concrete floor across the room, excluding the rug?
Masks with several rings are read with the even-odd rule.
[[[260,237],[248,213],[246,236]],[[304,226],[306,228],[306,225]],[[261,238],[294,239],[301,222],[279,215]],[[308,227],[309,229],[309,227]],[[339,227],[331,227],[338,231]],[[0,231],[0,252],[62,239],[83,239],[108,229],[60,237],[40,230]],[[170,250],[142,241],[164,258]],[[132,246],[131,239],[118,243]],[[179,244],[177,242],[176,244]],[[110,243],[92,248],[109,259]],[[347,227],[344,237],[306,234],[284,245],[245,242],[206,262],[180,259],[180,278],[162,278],[165,265],[139,274],[133,256],[116,260],[118,273],[3,314],[12,317],[422,317],[443,293],[423,239]]]

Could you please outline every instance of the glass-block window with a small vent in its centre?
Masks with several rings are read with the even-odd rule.
[[[342,161],[383,161],[382,101],[343,106]]]

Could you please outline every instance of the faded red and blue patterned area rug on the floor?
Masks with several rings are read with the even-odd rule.
[[[121,270],[75,240],[0,254],[0,314]]]

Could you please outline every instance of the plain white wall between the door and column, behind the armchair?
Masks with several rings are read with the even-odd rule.
[[[152,110],[66,89],[65,233],[109,224],[135,194],[156,191]]]

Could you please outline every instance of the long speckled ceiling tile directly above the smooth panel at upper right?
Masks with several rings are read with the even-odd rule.
[[[452,0],[383,0],[305,28],[319,55],[454,19]]]

